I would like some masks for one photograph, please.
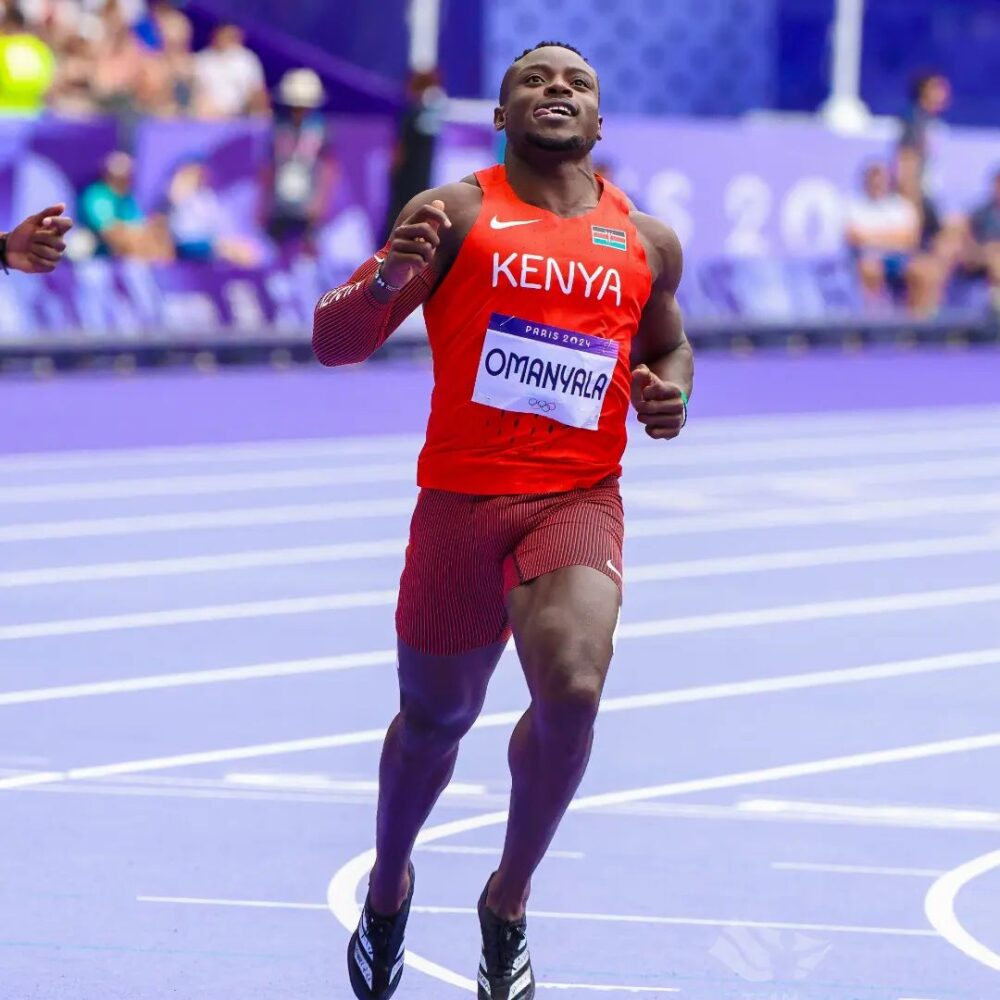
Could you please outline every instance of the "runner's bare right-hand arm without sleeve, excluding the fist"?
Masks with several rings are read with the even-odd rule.
[[[653,290],[632,342],[632,366],[645,365],[663,382],[678,386],[690,397],[694,354],[676,298],[684,269],[681,245],[674,231],[659,219],[636,213],[633,221],[649,255]]]

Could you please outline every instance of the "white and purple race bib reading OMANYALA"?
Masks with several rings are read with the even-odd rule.
[[[618,344],[493,313],[473,402],[597,430]]]

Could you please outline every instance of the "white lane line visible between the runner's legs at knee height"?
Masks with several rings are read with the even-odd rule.
[[[980,654],[957,654],[968,656],[972,660],[965,665],[972,666],[979,662]],[[937,658],[936,658],[937,659]],[[952,660],[949,667],[940,669],[957,669],[958,662]],[[911,661],[910,668],[905,663],[881,664],[874,667],[858,667],[848,671],[825,671],[820,674],[798,674],[788,677],[770,677],[761,681],[738,681],[732,684],[707,685],[697,688],[681,688],[671,691],[659,691],[645,695],[626,695],[620,698],[605,698],[601,703],[601,714],[615,712],[630,712],[644,708],[658,708],[673,704],[690,704],[701,701],[712,701],[720,698],[733,698],[758,694],[805,688],[811,686],[826,686],[830,684],[849,683],[845,675],[852,681],[875,679],[876,677],[902,676],[907,672],[923,673],[934,669],[930,661]],[[482,715],[476,720],[474,729],[492,729],[514,725],[523,714],[523,709],[509,712],[493,712]],[[85,781],[93,778],[107,778],[123,774],[140,774],[150,771],[165,771],[175,767],[188,767],[196,764],[217,764],[233,760],[249,760],[255,757],[274,757],[290,753],[303,753],[311,750],[326,750],[343,746],[360,746],[366,743],[381,743],[385,738],[385,728],[360,730],[353,733],[336,733],[329,736],[307,737],[305,739],[286,740],[254,744],[242,747],[229,747],[223,750],[208,750],[167,757],[153,757],[145,760],[126,761],[119,764],[98,765],[95,767],[79,767],[68,771],[44,771],[38,774],[18,775],[10,779],[0,778],[0,789],[23,788],[32,785],[47,785],[58,781]]]

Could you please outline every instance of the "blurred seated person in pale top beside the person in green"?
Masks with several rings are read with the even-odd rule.
[[[208,183],[201,160],[182,163],[167,191],[167,218],[179,260],[223,261],[253,267],[260,255],[253,244],[233,233],[229,214]]]

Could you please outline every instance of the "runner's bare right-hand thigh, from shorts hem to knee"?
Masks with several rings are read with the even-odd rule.
[[[611,665],[621,592],[590,566],[564,566],[512,589],[508,611],[532,697],[600,694]]]

